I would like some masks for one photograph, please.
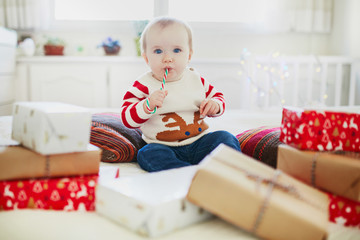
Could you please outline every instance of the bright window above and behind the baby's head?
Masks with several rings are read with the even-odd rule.
[[[133,21],[169,15],[189,22],[256,22],[266,0],[54,0],[55,20]]]

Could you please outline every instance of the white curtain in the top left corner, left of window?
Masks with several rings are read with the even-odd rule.
[[[0,0],[0,25],[7,28],[43,30],[51,19],[50,0]]]

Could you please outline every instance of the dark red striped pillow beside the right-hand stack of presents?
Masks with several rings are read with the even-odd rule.
[[[241,151],[268,166],[276,168],[277,149],[280,144],[280,127],[259,127],[236,135]]]

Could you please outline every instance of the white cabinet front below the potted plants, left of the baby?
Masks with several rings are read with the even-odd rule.
[[[84,107],[107,107],[104,64],[31,64],[31,101],[61,101]]]

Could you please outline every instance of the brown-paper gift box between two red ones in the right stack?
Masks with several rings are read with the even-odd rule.
[[[327,192],[360,201],[360,154],[278,148],[277,168]]]

